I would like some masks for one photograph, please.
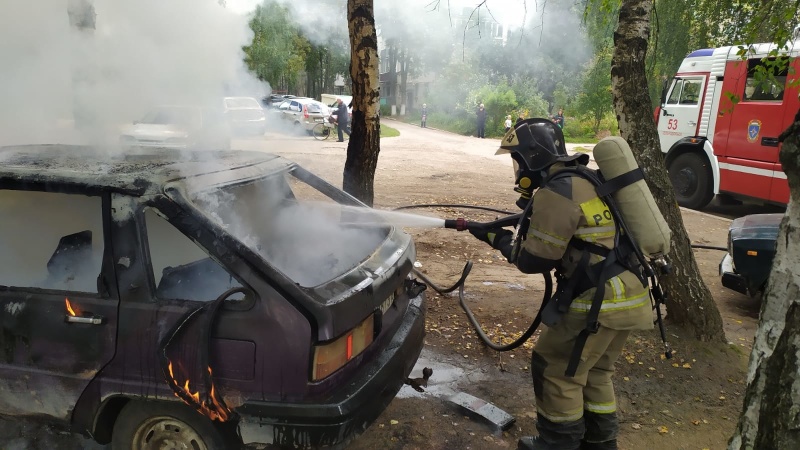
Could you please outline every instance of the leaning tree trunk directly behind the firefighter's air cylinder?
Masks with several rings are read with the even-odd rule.
[[[645,76],[652,8],[653,0],[622,2],[611,61],[614,111],[620,135],[630,144],[658,208],[672,230],[672,272],[661,277],[662,286],[669,294],[668,317],[671,322],[684,325],[702,341],[724,342],[722,317],[711,291],[700,277],[653,122]]]

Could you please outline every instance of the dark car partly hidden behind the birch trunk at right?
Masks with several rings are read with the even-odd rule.
[[[764,291],[783,214],[751,214],[731,222],[728,253],[719,264],[722,285],[755,296]]]

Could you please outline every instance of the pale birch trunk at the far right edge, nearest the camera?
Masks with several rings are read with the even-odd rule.
[[[789,180],[789,206],[761,300],[744,407],[729,450],[800,448],[800,111],[784,136],[780,158]]]

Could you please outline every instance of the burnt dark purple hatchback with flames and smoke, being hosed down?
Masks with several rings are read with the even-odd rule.
[[[420,354],[410,236],[291,161],[68,145],[0,161],[5,418],[119,449],[338,445]]]

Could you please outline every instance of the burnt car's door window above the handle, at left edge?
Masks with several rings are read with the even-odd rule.
[[[0,285],[97,293],[102,199],[0,189]]]

